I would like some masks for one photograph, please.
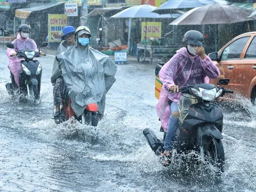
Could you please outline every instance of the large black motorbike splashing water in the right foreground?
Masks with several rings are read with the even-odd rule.
[[[197,151],[201,162],[209,162],[217,169],[217,175],[224,171],[225,154],[221,142],[223,114],[221,108],[214,101],[226,93],[234,93],[220,85],[227,85],[229,79],[220,79],[218,86],[213,84],[197,84],[180,88],[184,100],[180,100],[179,125],[176,130],[173,149],[178,154],[189,151]],[[185,102],[194,100],[195,102]],[[161,132],[164,132],[161,127]],[[158,139],[150,129],[143,130],[143,134],[149,146],[156,155],[164,151],[163,139]],[[169,162],[171,164],[171,161]]]

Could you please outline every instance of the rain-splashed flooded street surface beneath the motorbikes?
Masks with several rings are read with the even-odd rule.
[[[56,125],[51,119],[52,55],[39,59],[43,76],[38,105],[7,94],[6,49],[0,48],[0,57],[0,191],[256,191],[255,114],[254,119],[244,112],[224,114],[225,173],[220,183],[210,178],[201,182],[179,167],[163,167],[142,134],[150,128],[162,137],[154,65],[117,66],[105,117],[95,128]],[[95,135],[98,139],[92,142]]]

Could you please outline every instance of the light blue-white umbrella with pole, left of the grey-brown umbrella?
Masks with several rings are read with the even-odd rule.
[[[132,6],[129,7],[110,18],[129,18],[129,33],[128,33],[128,50],[130,50],[130,37],[131,37],[131,18],[177,18],[180,16],[180,14],[165,14],[165,15],[159,15],[157,13],[153,13],[152,11],[155,10],[155,6],[151,5],[138,5],[138,6]],[[147,26],[147,22],[146,22]],[[145,43],[146,46],[146,43]],[[146,49],[145,49],[146,50]],[[144,60],[145,60],[145,54],[144,52]]]

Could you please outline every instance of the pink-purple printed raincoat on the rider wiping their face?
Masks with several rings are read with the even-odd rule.
[[[212,60],[206,56],[204,60],[196,55],[191,57],[186,47],[177,51],[159,71],[159,78],[163,83],[160,97],[156,105],[157,115],[161,119],[161,125],[166,132],[170,121],[171,109],[169,100],[179,102],[181,92],[170,93],[167,91],[171,85],[195,85],[198,83],[209,83],[210,78],[217,78],[220,71]]]

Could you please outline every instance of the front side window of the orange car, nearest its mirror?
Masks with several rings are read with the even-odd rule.
[[[251,36],[242,37],[236,39],[236,41],[230,43],[222,52],[221,60],[227,59],[239,59],[244,49],[245,44]]]

